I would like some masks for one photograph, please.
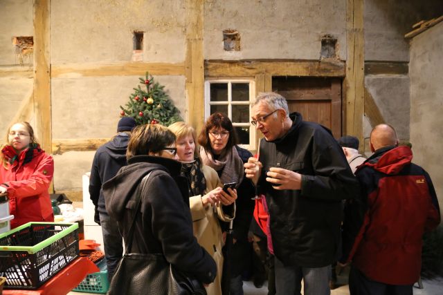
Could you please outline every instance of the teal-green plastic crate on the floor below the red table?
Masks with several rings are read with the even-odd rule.
[[[106,258],[100,260],[97,263],[100,272],[94,272],[88,274],[82,283],[80,283],[73,291],[75,292],[87,292],[87,293],[100,293],[106,294],[109,289],[108,269],[106,265]]]

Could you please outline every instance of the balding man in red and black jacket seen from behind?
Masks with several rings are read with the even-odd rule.
[[[356,171],[362,194],[347,202],[342,263],[352,260],[350,293],[412,295],[422,265],[422,236],[440,223],[431,178],[398,146],[392,126],[372,129],[374,153]]]

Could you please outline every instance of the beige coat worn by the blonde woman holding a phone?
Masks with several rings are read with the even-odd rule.
[[[217,171],[213,168],[203,165],[201,171],[206,179],[205,193],[212,191],[216,187],[223,186],[217,175]],[[204,247],[204,249],[208,251],[217,264],[217,276],[215,277],[214,282],[206,287],[206,292],[211,295],[221,295],[221,273],[223,271],[223,254],[221,254],[221,247],[223,247],[224,244],[221,227],[219,225],[219,220],[217,219],[224,222],[230,222],[230,220],[235,218],[235,209],[233,216],[228,216],[224,213],[221,204],[217,207],[210,205],[203,207],[201,195],[190,197],[189,204],[194,236],[197,238],[201,247]]]

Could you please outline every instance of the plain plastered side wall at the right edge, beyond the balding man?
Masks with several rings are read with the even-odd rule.
[[[443,211],[443,22],[410,41],[410,142],[413,162],[431,175]]]

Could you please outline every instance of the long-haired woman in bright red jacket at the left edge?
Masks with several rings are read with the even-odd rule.
[[[40,149],[28,122],[8,130],[0,153],[0,193],[10,199],[11,229],[30,221],[54,221],[48,188],[53,179],[54,161]]]

